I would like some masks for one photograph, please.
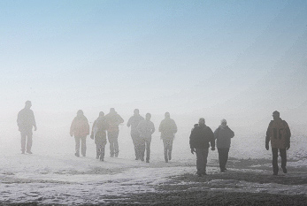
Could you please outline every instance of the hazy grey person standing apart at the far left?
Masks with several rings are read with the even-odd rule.
[[[17,126],[19,127],[19,132],[21,134],[21,154],[25,154],[26,141],[27,141],[27,153],[32,154],[32,136],[33,127],[35,131],[37,129],[35,122],[35,114],[30,109],[32,106],[31,101],[27,101],[25,108],[19,111],[17,117]]]

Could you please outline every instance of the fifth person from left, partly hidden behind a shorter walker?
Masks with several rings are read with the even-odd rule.
[[[134,154],[135,154],[135,160],[141,159],[141,140],[140,140],[140,133],[137,131],[136,126],[139,125],[139,123],[144,120],[144,118],[140,115],[140,111],[138,109],[134,110],[134,116],[129,118],[127,122],[127,126],[131,126],[131,138],[134,142]]]

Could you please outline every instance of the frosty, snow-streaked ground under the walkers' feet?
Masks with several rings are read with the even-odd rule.
[[[307,202],[304,150],[289,152],[288,174],[280,170],[277,177],[272,176],[269,153],[240,158],[236,152],[232,153],[235,150],[239,149],[231,150],[226,173],[219,172],[217,152],[211,151],[208,175],[198,178],[196,156],[188,148],[174,150],[169,164],[164,162],[162,150],[155,150],[155,145],[150,164],[135,161],[133,153],[125,151],[119,158],[106,155],[105,161],[100,162],[90,145],[88,156],[79,158],[73,152],[37,151],[21,155],[16,150],[2,149],[0,202],[66,205],[302,205]],[[128,155],[124,156],[125,153]]]

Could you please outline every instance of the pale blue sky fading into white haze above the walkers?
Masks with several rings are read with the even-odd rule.
[[[307,120],[306,1],[0,1],[0,31],[4,117]]]

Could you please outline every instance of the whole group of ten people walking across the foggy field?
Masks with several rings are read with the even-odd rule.
[[[36,131],[35,115],[30,109],[32,103],[26,102],[25,108],[19,111],[17,125],[21,134],[21,153],[32,154],[32,135],[33,127]],[[134,110],[134,115],[129,118],[127,126],[131,127],[131,138],[134,142],[135,160],[145,160],[150,163],[150,142],[151,135],[155,132],[155,126],[150,121],[151,114],[147,113],[145,118],[142,118],[138,109]],[[271,141],[272,148],[272,169],[273,175],[279,172],[278,167],[278,151],[281,157],[281,169],[287,173],[287,150],[290,148],[291,132],[285,120],[280,118],[280,112],[272,113],[273,120],[270,122],[265,136],[265,149],[269,150],[269,142]],[[99,112],[93,126],[90,138],[96,143],[96,158],[104,161],[105,145],[110,143],[110,156],[119,156],[119,125],[124,122],[124,119],[119,116],[114,108],[104,115],[103,111]],[[165,162],[168,163],[172,159],[173,139],[177,133],[175,121],[171,118],[169,112],[165,112],[163,119],[158,127],[161,133],[161,139],[164,143]],[[86,138],[89,134],[88,118],[84,116],[83,111],[77,111],[77,116],[73,118],[70,128],[70,135],[74,136],[75,140],[75,156],[86,156]],[[234,137],[234,132],[227,126],[226,119],[221,120],[220,126],[212,132],[209,126],[205,125],[204,118],[199,118],[198,124],[194,125],[189,136],[189,145],[191,153],[196,153],[196,169],[197,175],[206,175],[206,164],[209,153],[209,148],[215,150],[215,146],[219,152],[219,169],[220,172],[226,172],[226,163],[231,145],[231,139]]]

